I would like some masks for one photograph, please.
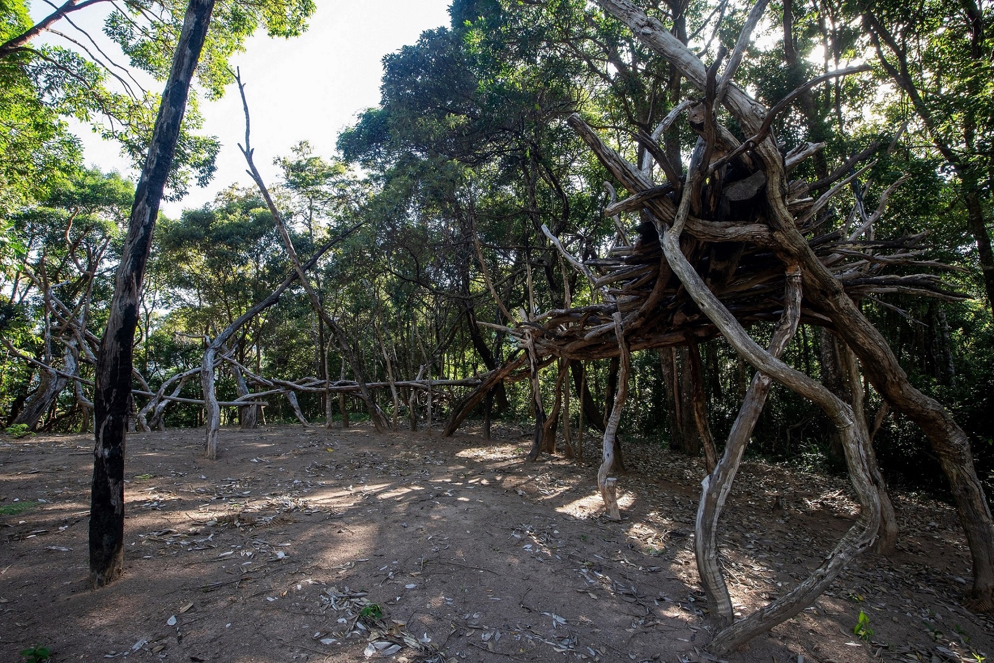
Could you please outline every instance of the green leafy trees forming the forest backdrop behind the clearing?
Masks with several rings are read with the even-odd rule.
[[[206,47],[207,66],[199,76],[208,95],[223,91],[229,82],[225,58],[257,25],[294,34],[312,11],[304,3],[272,3],[269,12],[248,4],[224,7],[220,16],[241,32],[232,32],[239,36],[231,42]],[[675,36],[708,54],[706,62],[719,48],[734,45],[748,9],[722,0],[654,7]],[[16,41],[31,27],[23,4],[2,11],[6,32],[0,39]],[[619,152],[638,162],[643,148],[631,129],[652,134],[682,98],[679,86],[685,83],[669,64],[585,2],[457,1],[450,14],[449,27],[426,32],[385,59],[381,103],[341,134],[338,154],[316,155],[301,143],[277,159],[276,204],[301,256],[361,223],[312,273],[369,382],[386,382],[390,373],[398,380],[419,372],[468,378],[496,368],[515,351],[499,331],[480,324],[508,321],[485,283],[481,259],[511,311],[591,300],[588,284],[566,268],[541,226],[564,238],[575,254],[593,257],[622,230],[636,235],[637,222],[624,220],[619,230],[603,218],[611,194],[602,183],[611,178],[564,120],[579,110],[590,124],[607,130]],[[890,197],[877,237],[927,233],[922,259],[962,267],[946,280],[974,299],[949,303],[902,295],[866,299],[861,306],[913,384],[949,408],[971,435],[984,480],[994,469],[991,14],[990,7],[972,2],[774,2],[742,70],[757,98],[772,105],[827,71],[873,65],[872,72],[803,94],[791,115],[778,122],[777,135],[785,148],[804,140],[826,143],[804,166],[811,180],[824,178],[853,155],[869,151],[876,158],[821,219],[826,229],[842,226],[856,206],[876,209],[890,185],[911,176]],[[156,30],[175,26],[174,19],[162,16],[160,24],[141,23],[139,30],[125,11],[107,25],[133,64],[159,77],[168,58],[155,51],[160,42],[154,37],[165,34]],[[108,83],[113,68],[101,68],[99,58],[35,51],[8,54],[0,47],[5,83],[0,86],[5,119],[0,126],[5,352],[0,416],[7,425],[84,430],[91,419],[87,387],[67,376],[92,380],[90,336],[105,324],[133,185],[83,168],[65,118],[103,122],[111,127],[108,137],[140,154],[150,130],[147,109],[154,104],[140,93],[119,91],[120,83]],[[85,90],[101,85],[106,98],[94,106]],[[134,119],[139,115],[145,119]],[[195,112],[187,123],[174,169],[177,196],[193,179],[210,175],[217,151],[216,143],[197,135]],[[676,123],[658,136],[672,163],[686,160],[681,157],[692,144],[689,133],[686,123]],[[154,242],[135,339],[136,388],[149,393],[196,369],[205,338],[275,289],[288,270],[273,219],[254,190],[232,187],[202,209],[161,219]],[[70,316],[89,336],[73,331],[66,322]],[[270,379],[352,378],[348,361],[299,288],[251,320],[232,346],[240,364]],[[701,452],[687,353],[634,354],[622,424],[626,436]],[[720,339],[704,344],[701,353],[710,423],[721,440],[751,370]],[[784,361],[826,383],[841,380],[832,337],[820,328],[803,325]],[[602,426],[616,376],[610,361],[571,367],[574,430],[580,417],[584,426]],[[555,372],[545,372],[542,380],[551,402]],[[179,385],[178,398],[201,398],[196,379]],[[232,401],[239,393],[238,376],[221,371],[219,398]],[[390,412],[390,392],[377,394]],[[423,420],[425,396],[419,393],[412,401],[402,393],[399,414],[407,418],[413,409]],[[434,394],[435,420],[457,396],[458,390]],[[943,479],[920,431],[904,416],[889,414],[872,389],[866,396],[868,412],[880,418],[875,445],[889,479],[940,490]],[[324,418],[324,398],[301,395],[301,413]],[[352,399],[335,401],[336,416],[363,416]],[[531,403],[527,383],[509,383],[483,407],[520,421],[531,416]],[[142,406],[136,397],[136,414]],[[295,420],[285,399],[271,399],[263,413],[267,422]],[[239,420],[236,408],[224,415],[229,422]],[[174,403],[161,422],[196,425],[202,416],[196,406]],[[154,415],[147,421],[159,423]],[[839,468],[842,459],[830,427],[811,404],[774,389],[750,449],[776,460]]]

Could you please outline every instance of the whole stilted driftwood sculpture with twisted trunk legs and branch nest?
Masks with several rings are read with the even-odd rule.
[[[728,652],[797,614],[880,533],[893,543],[894,513],[876,467],[862,411],[862,392],[857,393],[853,403],[847,403],[778,359],[799,322],[820,325],[844,341],[848,379],[859,380],[858,357],[869,380],[887,402],[911,416],[928,434],[954,485],[973,553],[973,607],[990,607],[994,587],[991,517],[973,470],[966,437],[939,404],[911,387],[883,337],[855,303],[889,293],[947,300],[964,296],[932,273],[886,273],[888,267],[895,265],[946,266],[920,259],[922,236],[876,239],[875,223],[886,209],[888,196],[901,181],[882,195],[880,207],[872,214],[857,205],[842,228],[822,232],[832,198],[847,186],[862,187],[859,178],[869,165],[854,172],[860,161],[860,157],[854,157],[821,181],[791,180],[790,173],[823,145],[806,143],[784,153],[772,135],[771,126],[780,111],[812,84],[866,68],[816,79],[767,109],[732,82],[765,0],[750,12],[739,43],[721,74],[721,57],[707,68],[659,21],[647,17],[628,0],[598,3],[675,66],[699,90],[699,96],[677,105],[654,135],[632,132],[648,155],[639,167],[606,145],[579,114],[569,118],[570,125],[629,194],[620,201],[612,199],[605,211],[606,216],[614,218],[619,240],[605,257],[580,262],[559,238],[543,228],[564,257],[589,278],[600,301],[542,314],[523,312],[515,326],[501,329],[518,339],[526,358],[515,363],[527,363],[536,384],[536,368],[552,358],[620,358],[619,385],[606,421],[602,464],[597,474],[608,516],[620,515],[616,480],[609,474],[625,399],[629,353],[694,346],[722,335],[757,373],[721,459],[714,458],[713,449],[706,449],[710,473],[702,482],[695,546],[718,628],[710,649],[714,653]],[[723,109],[743,129],[745,141],[719,122]],[[684,113],[699,135],[685,174],[682,164],[670,163],[656,142],[662,131]],[[868,155],[861,156],[865,159]],[[662,176],[660,181],[653,177],[654,170]],[[620,215],[626,213],[639,215],[635,233],[620,221]],[[745,331],[759,321],[775,323],[765,349]],[[504,370],[510,372],[510,362]],[[495,371],[464,404],[471,407],[479,403],[482,392],[498,379],[499,373]],[[815,403],[837,428],[860,503],[860,517],[807,580],[765,607],[735,620],[719,561],[717,528],[745,444],[774,381]],[[536,404],[537,411],[541,411],[541,399]],[[453,410],[447,433],[458,425],[464,410]],[[542,413],[538,414],[541,417]],[[537,440],[539,427],[537,421]],[[882,502],[887,521],[883,527]]]

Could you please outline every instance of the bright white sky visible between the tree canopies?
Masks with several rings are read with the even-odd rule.
[[[44,15],[46,7],[33,9],[33,14]],[[261,34],[248,40],[246,52],[233,58],[232,65],[241,68],[246,83],[255,165],[266,182],[276,180],[272,159],[288,155],[300,140],[309,140],[317,154],[330,155],[338,133],[355,120],[356,113],[379,103],[381,59],[414,44],[422,31],[448,25],[447,9],[448,0],[318,0],[310,29],[302,36],[283,40]],[[94,37],[100,19],[74,15]],[[64,28],[67,33],[68,28]],[[100,43],[110,53],[105,41]],[[222,143],[218,172],[207,188],[194,186],[184,200],[164,204],[163,212],[171,217],[213,200],[234,182],[250,183],[238,148],[245,140],[238,88],[231,85],[224,98],[204,103],[201,110],[204,132],[218,136]],[[101,141],[82,125],[77,132],[87,165],[134,176],[116,144]]]

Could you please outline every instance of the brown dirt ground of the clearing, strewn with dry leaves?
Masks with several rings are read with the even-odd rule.
[[[525,432],[224,428],[217,461],[200,455],[202,429],[131,434],[124,576],[97,591],[91,438],[0,437],[0,660],[34,645],[54,661],[714,660],[693,555],[701,461],[629,443],[615,523],[595,464],[525,462]],[[861,557],[729,660],[994,651],[994,623],[960,606],[955,512],[894,497],[896,555]],[[855,509],[841,478],[746,462],[721,534],[736,607],[803,578]]]

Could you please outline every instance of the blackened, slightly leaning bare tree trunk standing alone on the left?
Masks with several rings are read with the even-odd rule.
[[[94,587],[121,573],[124,545],[124,443],[131,396],[138,299],[159,204],[172,168],[190,82],[211,24],[214,0],[190,0],[162,93],[148,157],[135,191],[110,315],[100,341],[93,397],[96,444],[89,508],[89,580]]]

